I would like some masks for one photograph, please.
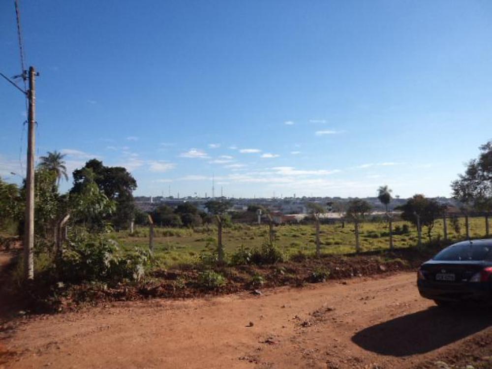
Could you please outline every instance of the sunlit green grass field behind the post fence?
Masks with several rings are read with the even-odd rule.
[[[408,226],[408,233],[398,232],[403,225]],[[448,238],[460,240],[464,238],[464,218],[460,219],[461,232],[457,234],[448,222]],[[417,245],[417,231],[410,223],[399,221],[393,223],[395,247]],[[299,251],[312,253],[315,250],[314,225],[281,225],[276,226],[276,245],[285,254],[294,254]],[[232,254],[239,247],[260,247],[268,241],[268,225],[234,224],[231,228],[224,228],[222,244],[226,254]],[[389,247],[388,226],[384,221],[367,222],[360,227],[362,251],[382,250]],[[470,218],[471,238],[485,237],[485,218]],[[137,228],[133,235],[127,231],[112,235],[118,240],[124,250],[130,251],[136,247],[148,248],[149,228]],[[432,230],[432,238],[443,237],[442,220],[436,221]],[[427,242],[427,228],[422,230],[423,242]],[[320,229],[322,253],[345,254],[355,252],[354,225],[346,223],[321,225]],[[161,265],[165,267],[193,263],[200,260],[200,255],[207,255],[215,251],[217,246],[217,229],[215,226],[200,227],[195,230],[187,228],[154,228],[154,251]]]

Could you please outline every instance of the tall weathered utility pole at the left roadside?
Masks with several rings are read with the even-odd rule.
[[[36,124],[36,76],[34,67],[29,67],[28,112],[28,157],[26,173],[26,220],[24,237],[24,277],[34,279],[34,147]]]

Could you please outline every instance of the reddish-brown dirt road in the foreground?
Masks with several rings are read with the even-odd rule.
[[[0,344],[9,369],[414,368],[490,338],[477,312],[433,307],[400,273],[25,318]]]

